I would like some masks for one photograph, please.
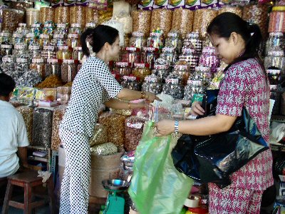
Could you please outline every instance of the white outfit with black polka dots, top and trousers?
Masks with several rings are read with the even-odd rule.
[[[71,100],[61,122],[60,135],[66,151],[66,168],[61,183],[60,213],[88,213],[90,183],[89,138],[101,104],[115,98],[122,86],[99,58],[83,63],[73,81]]]

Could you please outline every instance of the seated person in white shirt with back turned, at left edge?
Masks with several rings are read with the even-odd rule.
[[[13,78],[0,73],[0,178],[16,173],[19,161],[24,167],[28,166],[28,136],[24,118],[9,103],[14,88]]]

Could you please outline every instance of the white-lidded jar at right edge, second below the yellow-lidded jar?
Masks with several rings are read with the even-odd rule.
[[[264,67],[268,69],[275,67],[281,70],[281,75],[285,74],[285,57],[284,51],[269,51],[264,58]]]

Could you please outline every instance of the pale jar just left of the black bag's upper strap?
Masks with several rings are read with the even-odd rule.
[[[184,100],[192,101],[194,94],[204,94],[204,86],[202,81],[189,79],[184,91]]]

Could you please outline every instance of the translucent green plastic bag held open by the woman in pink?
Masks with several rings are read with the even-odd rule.
[[[178,137],[155,137],[152,125],[145,125],[135,152],[128,193],[140,214],[180,213],[193,180],[173,165],[171,151]]]

